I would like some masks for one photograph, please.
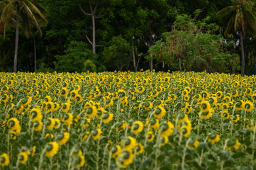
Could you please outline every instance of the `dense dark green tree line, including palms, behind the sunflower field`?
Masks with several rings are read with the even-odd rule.
[[[255,13],[252,0],[1,0],[1,71],[255,74]]]

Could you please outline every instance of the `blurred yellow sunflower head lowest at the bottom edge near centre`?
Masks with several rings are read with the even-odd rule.
[[[118,155],[116,160],[116,164],[122,169],[125,169],[129,164],[133,163],[133,152],[130,150],[124,150]]]

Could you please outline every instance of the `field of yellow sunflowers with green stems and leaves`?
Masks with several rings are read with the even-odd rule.
[[[256,77],[0,77],[0,169],[256,169]]]

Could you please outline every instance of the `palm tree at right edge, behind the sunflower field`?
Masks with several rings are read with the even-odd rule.
[[[253,0],[235,0],[233,5],[218,11],[218,14],[228,21],[228,25],[224,32],[226,36],[228,33],[240,33],[240,45],[242,53],[242,72],[245,75],[245,52],[243,47],[243,39],[245,33],[250,34],[253,38],[256,37],[256,8]]]

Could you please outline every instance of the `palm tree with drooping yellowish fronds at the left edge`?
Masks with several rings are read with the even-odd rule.
[[[7,26],[14,24],[16,26],[15,55],[13,65],[13,72],[16,73],[19,24],[21,23],[21,28],[27,37],[31,32],[31,23],[35,25],[40,33],[40,36],[42,36],[42,31],[38,21],[43,23],[43,26],[47,25],[48,21],[45,18],[47,11],[36,0],[4,0],[0,1],[0,7],[1,6],[0,28],[4,28],[4,34]]]

